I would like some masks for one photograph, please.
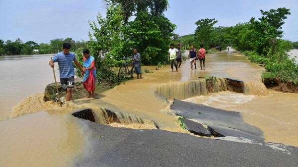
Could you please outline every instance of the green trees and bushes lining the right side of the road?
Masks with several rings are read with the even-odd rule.
[[[224,49],[232,46],[242,51],[252,62],[264,64],[270,75],[264,73],[263,78],[279,77],[283,82],[297,85],[298,65],[293,59],[289,59],[288,52],[297,48],[298,42],[292,43],[281,39],[283,37],[281,27],[287,15],[291,14],[290,9],[261,10],[261,13],[261,18],[252,17],[249,22],[232,27],[214,27],[217,20],[201,19],[196,22],[198,27],[194,35],[181,39],[185,41],[194,39],[195,43],[204,44],[206,49],[215,46]]]

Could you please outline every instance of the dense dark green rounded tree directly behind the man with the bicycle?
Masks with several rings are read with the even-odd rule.
[[[176,25],[163,16],[151,16],[140,11],[136,19],[125,28],[125,46],[128,46],[125,52],[129,54],[132,48],[137,48],[142,53],[144,64],[166,62],[175,28]]]

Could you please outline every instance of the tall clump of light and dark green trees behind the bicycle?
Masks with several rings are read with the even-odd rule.
[[[162,1],[164,0],[159,2]],[[108,64],[117,65],[117,61],[123,56],[132,55],[133,48],[137,48],[142,55],[142,63],[164,62],[166,56],[160,55],[167,54],[176,28],[160,13],[167,5],[156,6],[159,4],[157,0],[106,0],[106,2],[108,2],[106,18],[102,18],[100,14],[97,17],[100,28],[95,21],[89,22],[91,32],[88,46],[92,48],[93,55],[101,55]],[[126,18],[131,16],[135,16],[131,21]]]

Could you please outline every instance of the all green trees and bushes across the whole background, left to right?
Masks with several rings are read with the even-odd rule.
[[[245,23],[230,27],[216,27],[218,21],[215,18],[199,19],[195,22],[197,28],[193,34],[180,37],[173,33],[176,25],[164,17],[167,0],[103,1],[106,17],[98,14],[96,21],[89,21],[88,42],[75,42],[72,38],[53,39],[50,44],[23,43],[20,39],[15,42],[0,40],[0,55],[34,54],[32,50],[39,50],[39,54],[57,53],[62,50],[62,44],[68,42],[80,63],[82,49],[89,49],[96,61],[96,79],[113,86],[119,84],[115,67],[123,63],[124,56],[132,56],[134,48],[142,55],[143,65],[157,65],[158,69],[168,63],[170,43],[175,46],[182,44],[183,52],[191,45],[198,49],[203,44],[208,54],[218,52],[218,47],[221,51],[231,46],[251,61],[264,64],[270,75],[264,73],[263,77],[275,76],[298,84],[298,65],[287,55],[290,49],[298,49],[298,42],[282,39],[282,25],[291,14],[290,9],[261,10],[261,18],[252,17]]]

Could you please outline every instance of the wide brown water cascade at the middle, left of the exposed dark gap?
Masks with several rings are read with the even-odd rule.
[[[206,80],[164,83],[157,87],[156,93],[165,96],[170,101],[207,95]]]

